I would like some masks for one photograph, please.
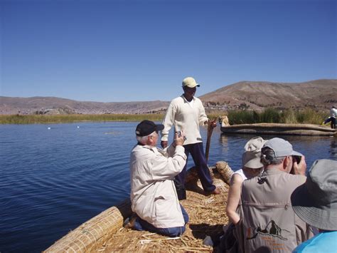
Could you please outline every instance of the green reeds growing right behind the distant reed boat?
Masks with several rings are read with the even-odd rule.
[[[262,112],[255,110],[229,110],[230,125],[252,123],[287,123],[287,124],[316,124],[321,125],[328,114],[311,108],[304,110],[277,110],[267,108]]]

